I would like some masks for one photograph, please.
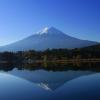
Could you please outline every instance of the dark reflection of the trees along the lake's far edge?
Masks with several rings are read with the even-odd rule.
[[[47,71],[67,71],[67,70],[87,70],[100,72],[100,63],[34,63],[34,64],[0,64],[0,70],[11,71],[14,68],[18,70],[39,70],[44,69]]]

